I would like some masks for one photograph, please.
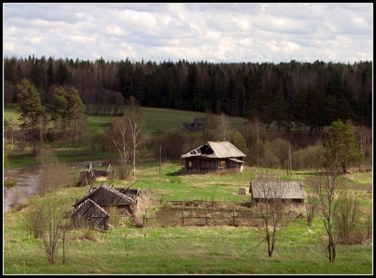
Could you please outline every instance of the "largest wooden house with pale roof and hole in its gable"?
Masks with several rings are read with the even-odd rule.
[[[218,172],[223,169],[243,170],[246,155],[229,141],[208,141],[181,155],[185,173]]]

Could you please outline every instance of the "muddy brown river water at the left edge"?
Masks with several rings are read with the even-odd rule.
[[[76,169],[87,169],[88,165],[102,166],[103,161],[84,161],[79,163],[68,163],[70,167]],[[7,171],[9,180],[17,180],[17,185],[4,191],[4,212],[10,209],[10,206],[16,200],[19,203],[26,203],[29,198],[34,196],[38,190],[38,178],[41,172],[41,166],[28,166],[16,168]]]

